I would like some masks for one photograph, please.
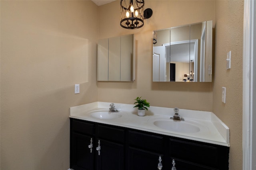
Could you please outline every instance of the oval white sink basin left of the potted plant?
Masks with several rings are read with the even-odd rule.
[[[91,117],[97,119],[116,119],[121,117],[118,112],[110,112],[109,110],[95,110],[90,112]]]

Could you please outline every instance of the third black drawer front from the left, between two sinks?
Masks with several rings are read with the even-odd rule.
[[[164,149],[164,137],[150,133],[129,131],[129,145],[162,153]]]

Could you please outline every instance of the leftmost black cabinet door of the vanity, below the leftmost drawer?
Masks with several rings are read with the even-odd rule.
[[[72,134],[71,159],[75,170],[94,170],[94,149],[88,147],[93,138],[79,133]]]

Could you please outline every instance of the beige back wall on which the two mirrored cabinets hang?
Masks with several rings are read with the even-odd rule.
[[[142,28],[128,30],[119,24],[119,1],[100,6],[99,39],[131,33],[136,37],[136,81],[98,82],[98,101],[133,104],[142,96],[152,106],[212,111],[212,83],[152,82],[152,31],[214,20],[214,1],[146,0],[146,8],[153,10],[152,17]]]

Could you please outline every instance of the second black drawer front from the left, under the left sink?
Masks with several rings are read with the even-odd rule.
[[[108,141],[124,143],[124,129],[106,125],[98,125],[98,137]]]

